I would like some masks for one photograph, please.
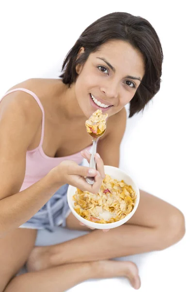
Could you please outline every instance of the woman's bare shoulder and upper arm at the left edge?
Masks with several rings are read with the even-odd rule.
[[[19,192],[26,151],[42,122],[42,112],[26,92],[15,91],[0,102],[0,200]]]

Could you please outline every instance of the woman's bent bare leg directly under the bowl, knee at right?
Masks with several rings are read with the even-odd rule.
[[[71,229],[82,229],[70,214]],[[118,256],[162,250],[184,235],[184,216],[172,205],[141,192],[139,207],[128,224],[107,233],[95,230],[76,239],[49,246],[36,247],[29,258],[28,268],[38,271],[64,263],[88,262]],[[102,248],[103,247],[103,248]]]

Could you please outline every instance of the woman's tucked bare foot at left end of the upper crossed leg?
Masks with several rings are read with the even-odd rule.
[[[34,247],[26,263],[28,272],[37,272],[49,268],[48,254],[47,246]]]

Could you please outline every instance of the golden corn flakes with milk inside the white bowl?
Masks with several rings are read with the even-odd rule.
[[[125,218],[134,208],[136,194],[131,185],[106,174],[99,193],[77,189],[73,200],[75,211],[82,218],[103,224]]]

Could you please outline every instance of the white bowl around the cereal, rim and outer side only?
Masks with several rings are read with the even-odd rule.
[[[131,179],[131,177],[126,172],[124,172],[123,170],[117,167],[108,166],[108,165],[104,166],[104,170],[105,170],[105,173],[110,175],[113,179],[116,179],[118,181],[123,180],[125,183],[131,185],[136,193],[137,198],[136,198],[133,210],[125,218],[113,223],[96,223],[96,222],[92,222],[92,221],[82,218],[74,210],[75,206],[74,206],[74,201],[73,201],[73,195],[75,195],[76,193],[76,187],[69,185],[68,190],[67,190],[67,201],[68,201],[71,212],[81,223],[89,227],[96,228],[96,229],[111,229],[111,228],[118,227],[124,224],[125,222],[127,222],[135,213],[137,206],[139,204],[139,199],[140,199],[140,193],[139,193],[139,188],[137,187],[137,184]]]

